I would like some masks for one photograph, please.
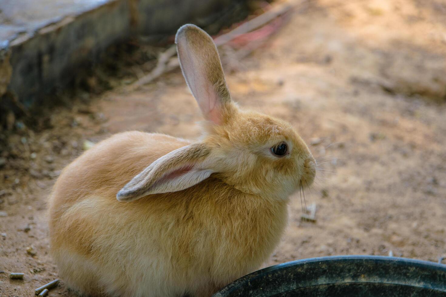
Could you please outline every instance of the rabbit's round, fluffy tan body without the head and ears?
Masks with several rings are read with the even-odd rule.
[[[116,201],[147,164],[187,144],[125,132],[64,169],[50,198],[50,234],[70,287],[93,296],[210,296],[268,257],[285,228],[286,200],[209,178],[175,195]]]

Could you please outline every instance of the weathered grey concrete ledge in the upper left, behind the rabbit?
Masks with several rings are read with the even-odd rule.
[[[33,106],[76,70],[135,34],[170,34],[236,0],[3,0],[0,96]],[[202,23],[203,21],[201,21]],[[202,24],[203,25],[203,24]],[[0,100],[0,105],[2,101]]]

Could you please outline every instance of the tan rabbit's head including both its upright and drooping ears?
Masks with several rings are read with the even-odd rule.
[[[305,142],[289,123],[242,110],[231,100],[212,38],[187,24],[175,42],[183,76],[206,119],[203,136],[150,164],[117,199],[181,191],[211,174],[237,190],[271,199],[287,199],[310,185],[316,162]]]

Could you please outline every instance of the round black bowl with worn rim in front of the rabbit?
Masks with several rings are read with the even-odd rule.
[[[330,256],[258,270],[214,297],[446,297],[446,265],[385,256]]]

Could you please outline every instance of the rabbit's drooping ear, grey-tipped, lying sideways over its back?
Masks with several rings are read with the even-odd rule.
[[[154,161],[136,175],[116,195],[119,201],[132,201],[150,194],[184,190],[215,172],[210,149],[202,143],[183,146]]]

